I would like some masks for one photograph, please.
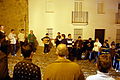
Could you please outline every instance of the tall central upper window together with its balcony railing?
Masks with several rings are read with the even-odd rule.
[[[84,0],[74,0],[74,11],[72,11],[72,23],[88,24],[88,12],[82,11]]]

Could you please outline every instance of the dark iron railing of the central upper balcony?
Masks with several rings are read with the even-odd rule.
[[[72,23],[88,24],[88,12],[72,11]]]

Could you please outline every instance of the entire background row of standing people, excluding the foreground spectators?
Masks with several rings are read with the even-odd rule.
[[[4,32],[4,26],[1,26],[1,32]],[[23,44],[29,43],[33,49],[33,52],[36,52],[37,49],[37,39],[34,35],[33,30],[30,30],[28,36],[25,35],[25,30],[21,29],[18,36],[15,34],[15,30],[11,29],[9,35],[6,35],[6,40],[10,42],[10,52],[12,56],[16,56],[16,53],[19,49],[19,45],[22,47]],[[65,44],[68,48],[67,58],[71,61],[74,60],[89,60],[90,62],[96,63],[97,58],[101,54],[110,54],[112,59],[112,66],[116,70],[120,70],[120,43],[111,42],[109,45],[108,40],[105,40],[103,44],[99,42],[99,38],[92,40],[82,40],[81,36],[78,36],[77,40],[72,38],[71,34],[67,36],[65,34],[57,33],[55,39],[49,37],[49,33],[45,34],[45,37],[41,38],[44,44],[44,54],[49,54],[51,48],[53,47],[53,41],[57,47],[59,44]],[[21,48],[22,51],[22,48]],[[22,55],[21,55],[22,56]]]

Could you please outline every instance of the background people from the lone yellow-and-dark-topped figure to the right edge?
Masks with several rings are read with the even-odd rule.
[[[51,40],[49,34],[46,33],[46,36],[42,38],[44,42],[44,53],[49,53],[51,49]],[[77,40],[74,40],[71,34],[68,34],[66,38],[65,34],[57,33],[56,38],[54,39],[56,47],[59,44],[65,44],[68,48],[69,55],[67,58],[71,61],[74,60],[89,60],[93,63],[96,63],[97,58],[101,54],[110,54],[112,59],[112,66],[117,71],[119,70],[119,59],[120,59],[120,43],[115,43],[114,41],[111,44],[108,43],[108,40],[105,40],[100,43],[99,39],[92,40],[82,40],[81,36],[78,36]]]

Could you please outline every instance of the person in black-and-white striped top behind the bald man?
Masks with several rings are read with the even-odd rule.
[[[68,34],[68,38],[67,38],[67,48],[68,48],[68,59],[70,59],[71,61],[73,61],[73,45],[74,45],[74,40],[71,37],[71,34]]]

